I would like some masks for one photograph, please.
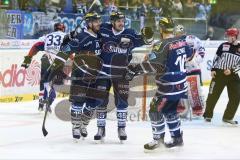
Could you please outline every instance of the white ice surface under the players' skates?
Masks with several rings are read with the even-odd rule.
[[[204,93],[207,95],[208,87],[204,87]],[[88,137],[75,143],[71,123],[59,120],[54,113],[46,121],[49,134],[47,137],[42,135],[44,115],[37,111],[37,101],[1,103],[0,159],[240,159],[240,128],[224,125],[221,121],[227,101],[224,90],[210,124],[203,119],[182,121],[183,147],[160,147],[151,153],[143,149],[143,145],[152,140],[149,122],[128,121],[128,140],[120,144],[117,123],[108,120],[105,142],[96,144],[93,140],[97,132],[94,119],[88,127]],[[238,121],[239,115],[238,110],[235,116]]]

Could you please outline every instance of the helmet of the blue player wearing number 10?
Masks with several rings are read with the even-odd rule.
[[[174,22],[171,18],[161,17],[159,27],[163,32],[174,32]]]

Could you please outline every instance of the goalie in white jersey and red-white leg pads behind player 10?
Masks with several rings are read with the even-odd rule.
[[[194,35],[186,35],[183,25],[176,25],[175,36],[185,36],[187,44],[193,50],[193,58],[186,63],[188,99],[182,99],[178,105],[178,112],[185,117],[187,111],[192,109],[193,116],[201,116],[204,108],[204,97],[201,92],[202,78],[200,64],[204,60],[205,48],[201,40]],[[190,108],[191,107],[191,108]]]

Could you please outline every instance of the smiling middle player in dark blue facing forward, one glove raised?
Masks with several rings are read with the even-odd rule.
[[[103,60],[102,71],[110,76],[119,76],[126,71],[126,67],[132,59],[131,51],[135,47],[144,44],[150,44],[153,41],[153,32],[151,28],[146,27],[141,30],[141,35],[133,29],[124,28],[125,15],[121,12],[113,12],[110,15],[111,23],[101,25],[101,59]],[[118,137],[120,140],[126,140],[125,133],[129,82],[124,79],[99,79],[97,88],[105,90],[108,94],[103,99],[103,103],[97,107],[97,127],[98,132],[94,140],[101,140],[105,137],[105,125],[107,117],[107,104],[109,90],[113,86],[115,105],[117,108]]]

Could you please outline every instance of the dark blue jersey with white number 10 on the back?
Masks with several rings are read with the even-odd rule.
[[[165,39],[153,46],[149,61],[163,64],[167,68],[166,74],[156,76],[157,95],[170,100],[186,98],[185,63],[191,56],[192,50],[185,37]]]

